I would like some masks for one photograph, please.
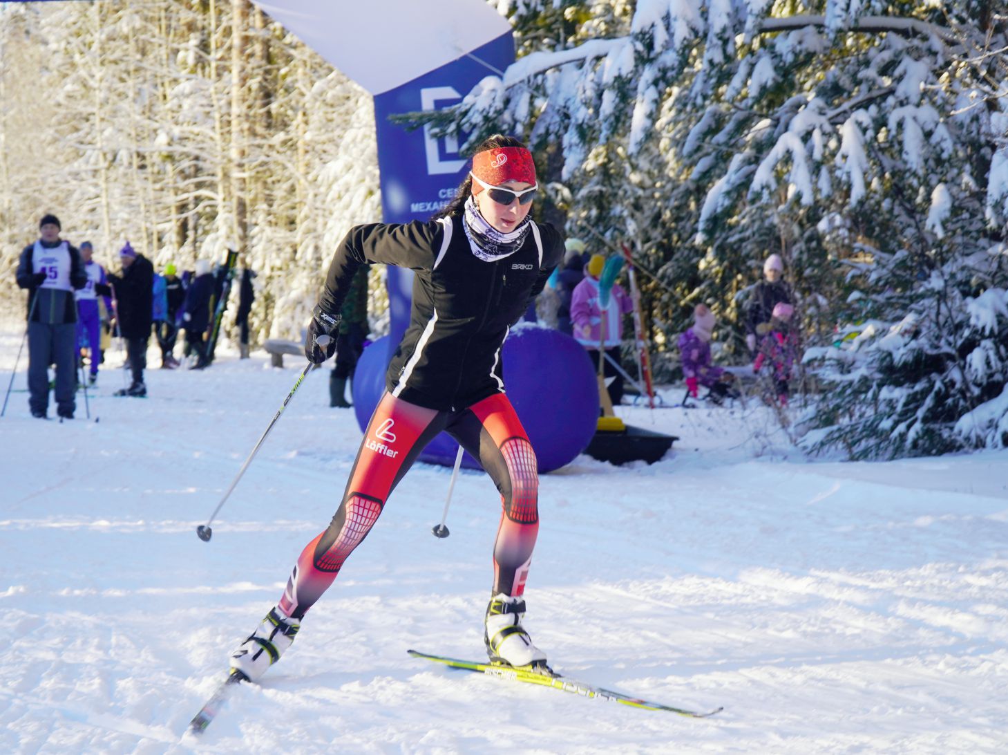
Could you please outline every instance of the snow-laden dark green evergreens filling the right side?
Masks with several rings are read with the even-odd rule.
[[[678,287],[675,330],[699,299],[737,317],[771,251],[788,262],[813,343],[832,341],[838,320],[869,318],[888,333],[916,318],[921,358],[900,351],[887,368],[881,351],[868,355],[876,349],[865,331],[857,349],[872,366],[854,367],[858,381],[841,385],[836,360],[815,352],[827,359],[814,362],[827,389],[821,422],[837,424],[809,440],[861,455],[1000,442],[956,423],[993,409],[986,402],[1004,372],[991,305],[1004,288],[998,214],[1008,197],[1005,80],[992,71],[1008,42],[1003,15],[973,0],[506,9],[534,28],[557,7],[564,17],[606,9],[606,35],[537,37],[543,46],[474,89],[459,123],[560,144],[572,218],[590,213],[613,240],[641,200],[625,184],[593,181],[646,175],[640,183],[655,189],[646,201],[667,233],[648,252],[667,277],[650,288],[652,312]],[[992,317],[980,318],[981,307]]]

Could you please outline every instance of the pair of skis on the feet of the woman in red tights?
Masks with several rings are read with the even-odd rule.
[[[674,713],[691,719],[706,719],[709,716],[714,716],[716,713],[724,710],[723,708],[718,708],[714,711],[702,713],[698,711],[688,711],[682,708],[674,708],[661,703],[652,703],[629,694],[624,694],[623,692],[606,689],[595,684],[576,681],[575,679],[571,679],[562,674],[553,672],[548,667],[515,667],[502,663],[484,663],[481,661],[467,661],[460,660],[458,658],[449,658],[444,655],[430,655],[429,653],[421,653],[418,650],[409,650],[407,652],[414,658],[422,658],[433,663],[440,663],[451,668],[476,671],[487,674],[488,676],[496,676],[498,678],[509,679],[511,681],[520,681],[526,684],[538,684],[539,686],[545,686],[551,689],[560,689],[564,692],[574,692],[575,694],[579,694],[583,697],[620,703],[624,706],[640,708],[645,711],[666,711],[668,713]],[[207,727],[214,721],[217,714],[220,713],[224,704],[227,703],[227,698],[230,695],[231,690],[234,689],[235,685],[241,681],[248,681],[248,678],[241,671],[232,670],[231,675],[221,683],[221,685],[217,688],[217,691],[215,691],[211,698],[207,700],[207,704],[190,723],[188,731],[194,735],[203,734]]]

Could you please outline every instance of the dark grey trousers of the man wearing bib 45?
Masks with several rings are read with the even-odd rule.
[[[28,406],[42,414],[49,406],[49,364],[56,365],[56,409],[73,413],[77,394],[77,323],[28,323]]]

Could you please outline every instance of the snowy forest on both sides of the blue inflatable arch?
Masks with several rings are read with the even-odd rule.
[[[659,379],[701,302],[718,358],[746,359],[742,313],[776,252],[807,449],[1008,444],[1003,6],[491,4],[518,61],[433,121],[523,137],[537,216],[627,244]],[[296,338],[335,244],[380,219],[371,98],[248,0],[0,3],[4,321],[44,212],[106,264],[127,239],[157,268],[240,248],[253,340]]]

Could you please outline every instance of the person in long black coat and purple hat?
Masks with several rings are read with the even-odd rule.
[[[115,395],[141,398],[147,395],[143,370],[147,366],[147,343],[153,320],[154,265],[143,254],[137,254],[129,241],[119,250],[119,259],[122,273],[118,276],[110,273],[108,280],[115,290],[119,333],[126,341],[133,382]]]

